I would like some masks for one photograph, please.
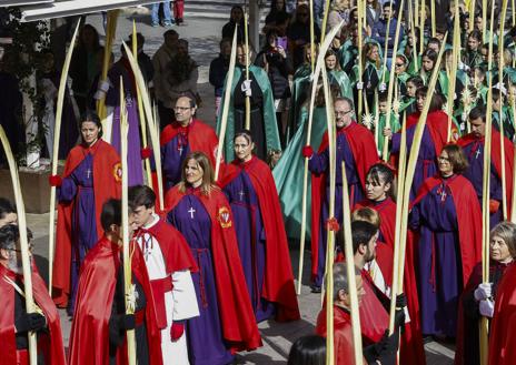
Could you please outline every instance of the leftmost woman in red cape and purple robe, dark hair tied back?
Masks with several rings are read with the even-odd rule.
[[[68,155],[58,186],[58,222],[53,261],[52,297],[57,306],[73,313],[79,270],[88,250],[102,236],[100,212],[110,197],[120,197],[121,165],[115,149],[103,142],[97,114],[88,112],[80,124],[82,143]]]

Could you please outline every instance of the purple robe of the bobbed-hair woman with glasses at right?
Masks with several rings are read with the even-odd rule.
[[[455,337],[463,273],[457,212],[448,186],[435,186],[413,207],[410,226],[419,227],[420,234],[416,260],[423,334]]]

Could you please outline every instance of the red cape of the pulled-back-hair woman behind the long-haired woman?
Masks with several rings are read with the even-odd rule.
[[[294,286],[287,233],[285,232],[278,192],[269,166],[256,156],[252,156],[247,163],[235,160],[227,165],[226,175],[220,180],[220,186],[224,189],[242,170],[249,175],[258,196],[266,233],[266,267],[262,295],[267,301],[278,304],[277,321],[299,320],[300,314]]]

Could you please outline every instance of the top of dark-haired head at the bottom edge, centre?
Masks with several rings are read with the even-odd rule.
[[[325,365],[326,339],[319,335],[308,335],[296,339],[290,347],[287,365]]]

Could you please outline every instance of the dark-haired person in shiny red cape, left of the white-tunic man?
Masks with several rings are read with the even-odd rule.
[[[69,364],[129,364],[126,332],[135,329],[138,364],[162,364],[155,304],[141,251],[130,243],[135,314],[126,314],[121,203],[108,200],[101,212],[105,234],[82,263],[71,325]]]

